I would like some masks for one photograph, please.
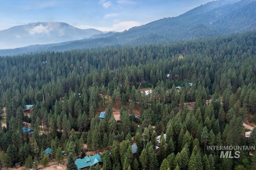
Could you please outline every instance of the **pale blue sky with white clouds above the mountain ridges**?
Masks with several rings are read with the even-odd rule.
[[[212,0],[0,0],[0,30],[33,22],[124,31],[176,17]]]

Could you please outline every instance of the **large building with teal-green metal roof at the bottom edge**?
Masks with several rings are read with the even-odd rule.
[[[94,166],[100,162],[102,162],[102,160],[99,154],[95,154],[93,156],[85,156],[82,159],[78,158],[75,160],[75,164],[80,170],[90,168],[90,166]]]

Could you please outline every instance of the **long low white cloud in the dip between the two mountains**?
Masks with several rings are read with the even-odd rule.
[[[118,32],[122,32],[125,29],[128,30],[131,27],[140,26],[140,25],[142,25],[142,23],[137,22],[137,21],[121,21],[121,22],[118,22],[118,23],[114,23],[111,27],[98,27],[98,26],[93,26],[93,25],[78,25],[76,27],[78,27],[80,29],[94,28],[94,29],[98,29],[100,31],[118,31]]]

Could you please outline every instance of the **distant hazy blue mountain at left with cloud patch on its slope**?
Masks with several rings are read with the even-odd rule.
[[[0,48],[60,43],[104,33],[97,29],[79,29],[63,22],[37,22],[0,31]]]

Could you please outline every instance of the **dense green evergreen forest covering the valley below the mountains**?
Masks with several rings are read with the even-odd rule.
[[[29,104],[33,111],[24,114]],[[254,150],[253,156],[240,150],[239,158],[220,158],[220,151],[206,147],[256,145],[256,128],[246,138],[243,126],[246,120],[256,123],[256,31],[0,57],[0,108],[6,123],[0,160],[7,167],[29,167],[33,160],[47,165],[44,150],[50,147],[58,162],[62,150],[68,161],[110,150],[111,156],[102,155],[104,170],[254,170]],[[135,113],[142,117],[129,116]],[[34,130],[31,137],[22,131],[24,122]]]

